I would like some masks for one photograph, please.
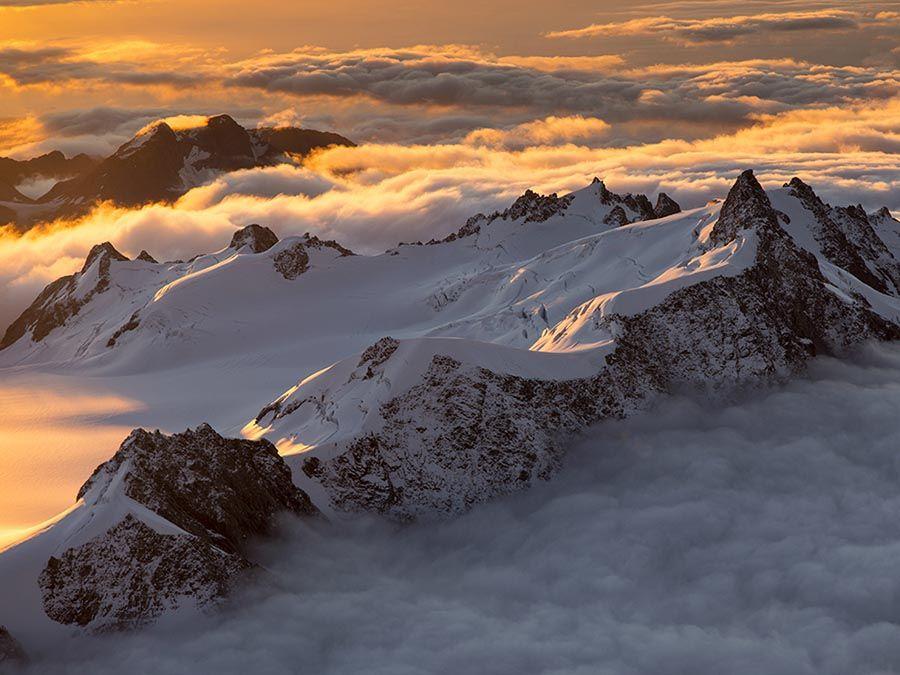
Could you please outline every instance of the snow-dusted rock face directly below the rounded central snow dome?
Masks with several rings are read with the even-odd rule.
[[[442,517],[549,479],[567,433],[624,411],[608,374],[573,381],[501,375],[435,356],[422,381],[382,407],[378,433],[303,471],[343,511]]]

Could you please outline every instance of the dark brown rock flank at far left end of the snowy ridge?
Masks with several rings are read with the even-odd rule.
[[[49,284],[19,318],[10,324],[3,339],[0,340],[0,349],[9,347],[29,330],[31,339],[40,342],[50,331],[65,325],[66,321],[78,314],[96,295],[109,289],[110,263],[127,260],[128,258],[119,253],[108,241],[94,246],[88,253],[81,272],[60,277]],[[94,263],[98,263],[97,281],[92,289],[77,297],[75,290],[78,282]]]

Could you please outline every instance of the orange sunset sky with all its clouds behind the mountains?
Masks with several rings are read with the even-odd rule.
[[[98,241],[190,257],[260,222],[375,253],[593,176],[689,207],[754,168],[897,211],[898,66],[896,1],[0,0],[0,156],[105,155],[223,112],[359,146],[0,228],[0,323]]]

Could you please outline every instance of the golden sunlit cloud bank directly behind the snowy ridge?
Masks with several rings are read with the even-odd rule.
[[[454,143],[333,148],[303,166],[221,176],[174,205],[101,207],[24,236],[0,228],[0,329],[103,241],[128,255],[146,249],[158,260],[187,259],[223,248],[236,227],[257,222],[279,236],[311,232],[377,253],[445,236],[528,188],[564,193],[593,176],[619,193],[666,191],[687,208],[723,198],[740,171],[754,168],[766,187],[799,175],[826,201],[897,211],[898,123],[894,99],[763,115],[734,133],[627,147],[603,145],[602,120],[570,115],[486,127]]]

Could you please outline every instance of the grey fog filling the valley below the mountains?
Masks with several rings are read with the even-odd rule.
[[[724,409],[592,428],[553,481],[439,525],[288,523],[216,616],[30,672],[900,669],[900,347]]]

